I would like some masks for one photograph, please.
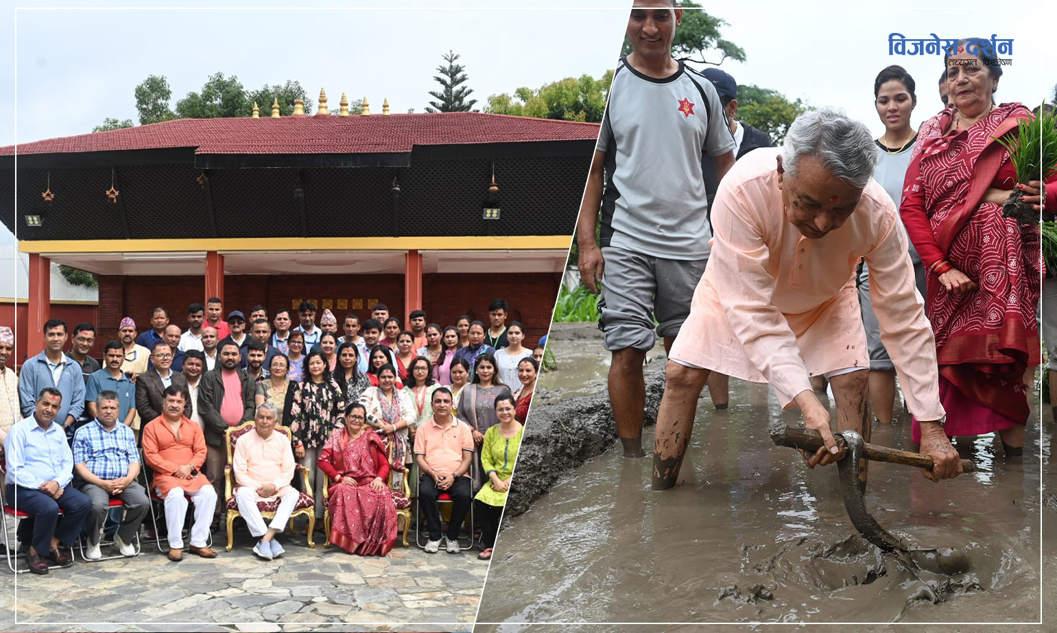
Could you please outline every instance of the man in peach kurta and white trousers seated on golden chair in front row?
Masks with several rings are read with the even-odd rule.
[[[290,485],[294,477],[294,451],[286,434],[275,432],[276,413],[271,403],[257,407],[254,432],[239,437],[231,454],[239,514],[246,520],[249,534],[260,537],[254,554],[267,560],[283,553],[275,537],[286,526],[300,496]],[[265,525],[257,504],[276,501],[275,517]]]

